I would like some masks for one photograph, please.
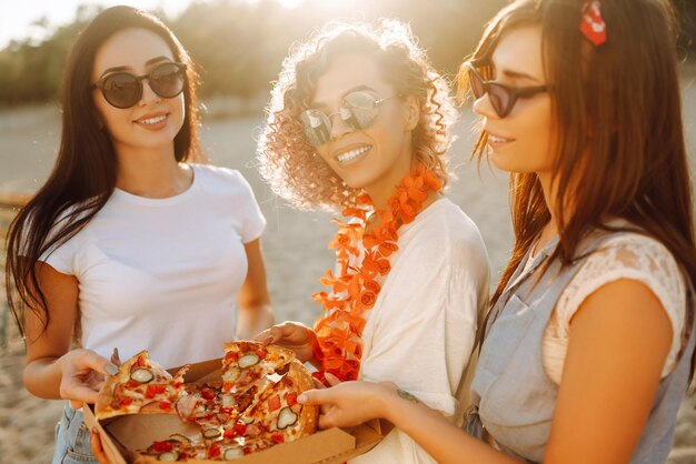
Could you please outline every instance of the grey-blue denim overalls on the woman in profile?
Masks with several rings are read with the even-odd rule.
[[[481,438],[486,432],[503,452],[528,462],[541,462],[558,394],[541,363],[544,331],[563,290],[587,255],[612,235],[608,232],[589,235],[578,248],[576,261],[560,270],[556,260],[540,280],[531,274],[546,262],[558,239],[541,250],[527,270],[524,263],[529,256],[517,268],[491,309],[486,327],[464,426],[470,435]],[[693,300],[687,297],[687,302],[692,304]],[[659,383],[632,464],[658,464],[667,460],[696,340],[696,327],[686,332],[688,329],[685,326],[685,333],[690,333],[686,349],[675,370]]]

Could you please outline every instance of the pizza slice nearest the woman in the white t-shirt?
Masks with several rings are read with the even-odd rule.
[[[173,376],[143,350],[119,366],[118,374],[105,381],[95,414],[98,420],[125,414],[176,414],[175,404],[183,393],[183,374]]]

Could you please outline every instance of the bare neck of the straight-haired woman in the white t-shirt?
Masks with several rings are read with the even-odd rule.
[[[173,150],[118,152],[116,186],[128,193],[173,196],[187,190],[192,179],[191,169],[176,161]]]

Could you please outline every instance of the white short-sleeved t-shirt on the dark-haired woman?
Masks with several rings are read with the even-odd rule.
[[[79,281],[83,347],[165,367],[219,357],[235,339],[245,243],[266,220],[238,171],[192,165],[191,186],[147,199],[116,189],[77,235],[41,256]]]

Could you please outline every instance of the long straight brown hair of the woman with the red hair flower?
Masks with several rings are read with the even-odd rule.
[[[603,220],[618,216],[667,246],[685,276],[696,283],[674,10],[667,0],[604,0],[607,41],[595,48],[579,32],[583,3],[515,1],[490,21],[471,57],[490,75],[491,54],[501,36],[523,26],[541,28],[558,127],[554,182],[559,246],[551,258],[570,263],[587,231],[608,229]],[[468,92],[467,75],[463,67],[460,97]],[[589,142],[587,134],[591,134]],[[486,154],[487,137],[481,132],[474,150],[479,161]],[[510,175],[510,199],[515,248],[494,304],[551,218],[534,173]],[[574,211],[564,215],[561,205],[569,199]],[[690,331],[694,306],[689,304],[686,312],[685,330]],[[696,354],[689,379],[695,367]]]

